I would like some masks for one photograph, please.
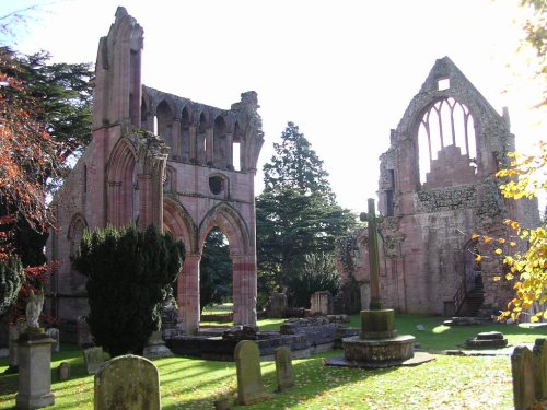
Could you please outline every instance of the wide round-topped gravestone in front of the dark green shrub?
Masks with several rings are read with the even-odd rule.
[[[95,410],[160,410],[160,374],[148,359],[123,355],[95,374]]]

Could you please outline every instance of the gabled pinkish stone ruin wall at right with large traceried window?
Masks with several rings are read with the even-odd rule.
[[[450,85],[441,87],[441,80]],[[423,149],[423,139],[418,138],[427,136],[431,141],[434,137],[420,127],[427,124],[433,128],[428,113],[441,110],[444,103],[461,104],[463,116],[473,120],[469,128],[476,149],[458,147],[455,137],[451,141],[447,136],[441,137],[444,147],[438,151],[429,142],[429,152],[437,152],[437,159],[429,157],[429,173],[420,175],[420,157],[427,145]],[[452,125],[454,136],[457,132]],[[514,150],[509,127],[509,114],[496,113],[449,58],[435,62],[397,129],[392,130],[391,147],[380,157],[379,211],[386,216],[381,225],[385,255],[381,293],[386,306],[406,313],[443,314],[473,263],[473,233],[504,236],[503,219],[525,213],[525,223],[537,226],[537,202],[504,200],[498,189],[500,181],[493,177],[508,166],[507,152]],[[354,237],[361,239],[338,243],[342,289],[362,289],[369,278],[365,234],[358,232]],[[477,249],[481,255],[493,255],[491,245],[478,244]],[[493,258],[485,257],[481,269],[485,306],[497,313],[510,300],[511,285],[493,280],[502,271]],[[346,292],[351,293],[349,289]],[[361,302],[365,308],[366,303]]]

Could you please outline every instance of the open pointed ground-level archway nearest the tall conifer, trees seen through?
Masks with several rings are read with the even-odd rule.
[[[211,229],[203,243],[199,276],[201,320],[232,321],[232,259],[228,237],[219,227]]]

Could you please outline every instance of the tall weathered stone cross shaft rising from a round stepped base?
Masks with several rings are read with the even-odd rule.
[[[374,199],[369,198],[369,212],[360,215],[361,221],[369,225],[369,266],[371,271],[371,311],[380,311],[383,304],[380,297],[380,257],[377,247],[377,224],[382,223],[383,216],[376,216]]]

